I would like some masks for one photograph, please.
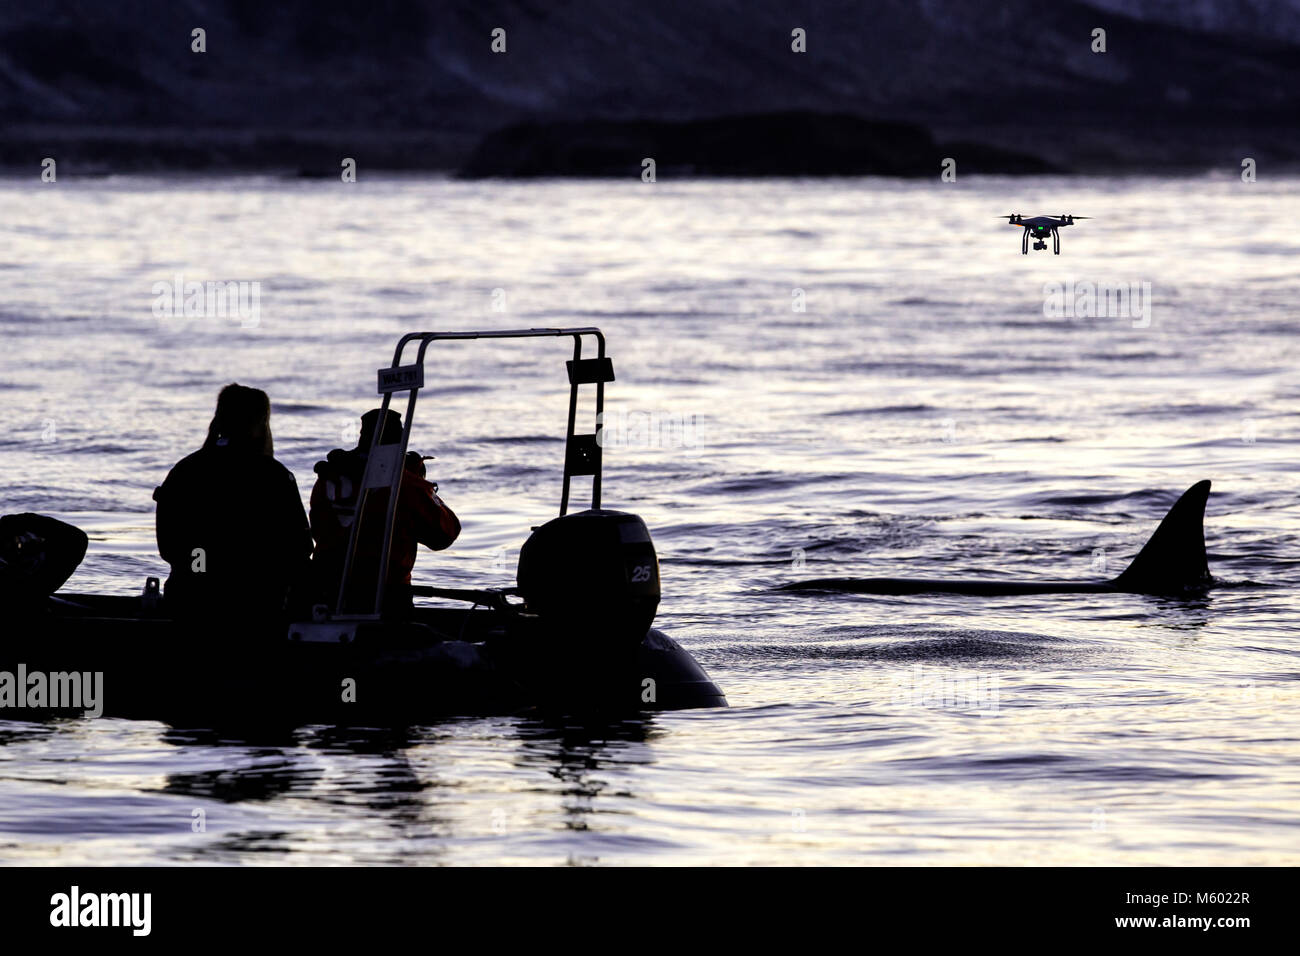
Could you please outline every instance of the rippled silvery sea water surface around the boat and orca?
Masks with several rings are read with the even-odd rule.
[[[1300,181],[131,177],[0,195],[0,512],[84,528],[77,589],[165,571],[150,494],[222,384],[272,394],[306,497],[400,333],[594,324],[621,429],[604,503],[650,524],[659,624],[732,702],[255,739],[4,722],[0,860],[1300,861]],[[1014,211],[1096,219],[1062,230],[1063,255],[1022,256],[996,219]],[[177,276],[260,282],[256,326],[155,316]],[[1044,315],[1048,282],[1150,284],[1149,323]],[[554,514],[564,358],[477,342],[430,362],[416,442],[464,533],[422,580],[510,583]],[[771,591],[1110,576],[1202,477],[1232,585],[1204,600]]]

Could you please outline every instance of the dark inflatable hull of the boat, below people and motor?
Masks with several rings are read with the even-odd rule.
[[[696,659],[651,628],[601,659],[488,609],[420,607],[355,643],[290,641],[287,623],[182,623],[139,598],[60,594],[0,641],[0,671],[103,674],[107,717],[168,723],[389,726],[525,711],[727,706]],[[0,718],[77,715],[0,709]]]

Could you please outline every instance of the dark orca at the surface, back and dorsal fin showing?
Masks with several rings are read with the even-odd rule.
[[[855,594],[1062,594],[1128,593],[1176,596],[1213,587],[1205,561],[1205,501],[1209,481],[1183,492],[1156,533],[1124,568],[1109,581],[1035,581],[926,578],[816,578],[792,581],[777,591],[838,591]]]

